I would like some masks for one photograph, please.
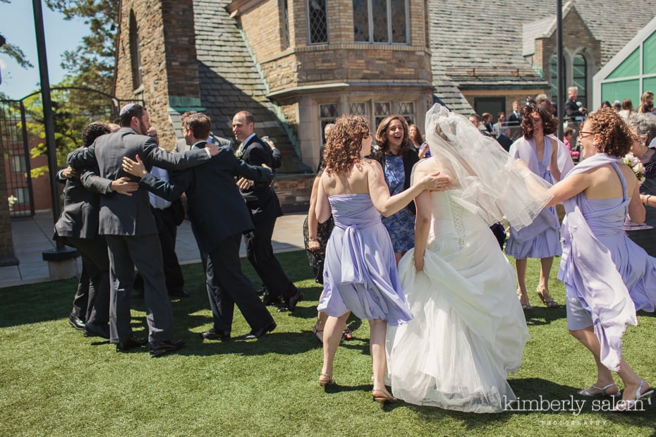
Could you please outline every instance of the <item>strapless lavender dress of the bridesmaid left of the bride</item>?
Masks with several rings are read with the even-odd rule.
[[[335,317],[351,311],[391,326],[411,320],[394,248],[370,195],[328,199],[335,227],[326,246],[324,293],[317,309]]]

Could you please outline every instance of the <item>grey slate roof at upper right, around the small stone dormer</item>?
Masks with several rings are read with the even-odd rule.
[[[602,65],[656,16],[655,0],[572,0],[602,46]],[[431,0],[430,39],[436,97],[454,111],[473,110],[455,85],[545,87],[522,56],[525,24],[547,30],[556,0]],[[615,25],[614,23],[619,23]],[[529,29],[531,30],[531,29]],[[479,75],[471,75],[473,70]],[[519,72],[513,75],[512,72]]]

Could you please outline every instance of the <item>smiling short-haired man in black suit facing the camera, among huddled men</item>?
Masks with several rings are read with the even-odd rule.
[[[232,119],[232,130],[235,139],[241,142],[236,151],[238,158],[251,166],[265,164],[274,167],[271,147],[255,135],[255,120],[252,113],[248,111],[236,113]],[[273,253],[271,238],[276,219],[282,215],[276,192],[270,183],[253,183],[250,180],[241,180],[240,189],[255,225],[253,233],[248,233],[244,237],[246,256],[267,288],[263,301],[265,304],[279,303],[281,312],[291,311],[298,301],[303,299],[303,293],[300,293],[289,281]]]

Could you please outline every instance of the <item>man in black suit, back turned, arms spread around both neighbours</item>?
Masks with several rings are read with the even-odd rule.
[[[184,125],[192,149],[205,147],[211,121],[196,113]],[[171,171],[169,183],[147,173],[140,159],[124,159],[123,169],[141,177],[140,185],[164,199],[176,199],[186,192],[191,228],[201,254],[206,254],[205,274],[214,326],[201,333],[207,340],[229,340],[235,304],[251,331],[240,338],[260,338],[276,328],[265,304],[255,294],[253,284],[241,271],[241,235],[253,229],[248,209],[235,185],[235,176],[271,183],[272,171],[249,166],[236,159],[230,147],[214,156],[209,164],[186,171]]]

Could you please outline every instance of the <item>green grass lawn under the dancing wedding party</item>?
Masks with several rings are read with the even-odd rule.
[[[648,436],[656,407],[625,414],[593,411],[577,388],[595,382],[589,353],[569,336],[565,309],[546,309],[530,295],[531,339],[523,364],[510,377],[522,400],[585,400],[583,412],[466,414],[400,402],[381,410],[372,402],[368,324],[351,319],[354,338],[343,342],[335,367],[339,387],[322,393],[317,377],[322,349],[312,336],[321,288],[304,252],[278,255],[305,293],[293,313],[274,313],[278,328],[260,340],[201,343],[212,324],[200,265],[184,266],[193,295],[174,300],[178,338],[187,345],[157,359],[145,351],[117,354],[113,345],[83,338],[67,324],[74,280],[0,290],[0,435],[98,436]],[[260,281],[244,263],[256,285]],[[530,260],[528,289],[537,285]],[[554,267],[552,276],[557,269]],[[552,279],[552,294],[564,288]],[[133,302],[133,326],[145,326],[143,302]],[[633,368],[656,384],[656,318],[639,313],[624,336]],[[236,311],[233,334],[248,331]],[[619,378],[616,378],[619,381]]]

